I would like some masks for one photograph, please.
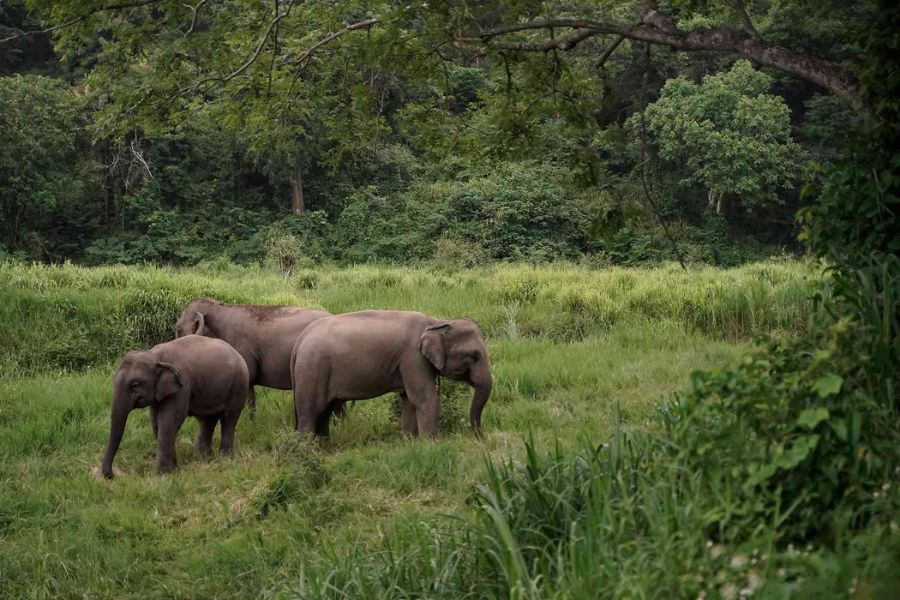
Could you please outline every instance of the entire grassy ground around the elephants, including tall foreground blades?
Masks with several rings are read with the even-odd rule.
[[[768,523],[729,541],[710,524],[735,499],[663,460],[657,437],[660,396],[736,362],[747,336],[802,331],[818,280],[792,262],[324,267],[288,280],[0,265],[0,597],[889,597],[889,526],[828,551],[783,547]],[[469,315],[495,371],[485,437],[460,426],[456,386],[442,386],[433,442],[405,439],[376,399],[310,444],[290,432],[290,393],[260,390],[234,457],[196,455],[189,420],[178,471],[158,476],[135,413],[119,477],[102,480],[113,361],[167,339],[197,295]]]

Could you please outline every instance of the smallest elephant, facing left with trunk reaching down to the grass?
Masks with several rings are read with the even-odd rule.
[[[200,422],[200,433],[194,442],[198,452],[209,453],[219,421],[222,452],[231,452],[249,385],[244,359],[221,340],[189,335],[144,352],[129,352],[113,378],[112,420],[103,476],[113,476],[112,461],[133,408],[150,407],[150,424],[157,441],[156,463],[161,473],[171,471],[177,464],[175,437],[188,415]]]

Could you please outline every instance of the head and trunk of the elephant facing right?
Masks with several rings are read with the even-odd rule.
[[[419,351],[444,377],[465,381],[475,393],[469,410],[469,422],[481,433],[481,413],[493,388],[491,363],[478,325],[471,319],[441,321],[425,329],[419,338]]]

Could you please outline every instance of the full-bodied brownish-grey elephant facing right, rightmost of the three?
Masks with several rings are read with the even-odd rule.
[[[297,338],[291,356],[297,430],[328,435],[336,403],[401,392],[404,433],[434,437],[436,376],[469,383],[469,421],[481,413],[493,378],[481,331],[470,319],[444,321],[417,312],[366,310],[320,319]]]

